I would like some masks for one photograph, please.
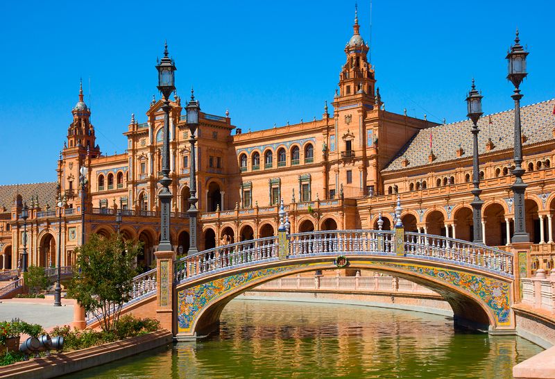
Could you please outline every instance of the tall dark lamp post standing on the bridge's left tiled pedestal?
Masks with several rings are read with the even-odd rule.
[[[176,90],[175,87],[175,71],[176,66],[173,60],[168,57],[168,44],[164,44],[164,58],[156,65],[158,70],[158,90],[164,96],[164,142],[162,144],[162,179],[160,184],[162,190],[158,194],[160,199],[160,244],[158,244],[158,251],[172,251],[169,226],[171,217],[171,178],[169,178],[169,96],[171,92]]]

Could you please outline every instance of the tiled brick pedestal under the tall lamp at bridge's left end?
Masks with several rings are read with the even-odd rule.
[[[156,319],[160,327],[173,332],[173,264],[174,251],[156,251]]]

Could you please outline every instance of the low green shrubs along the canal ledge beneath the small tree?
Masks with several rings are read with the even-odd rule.
[[[114,330],[71,330],[69,326],[56,327],[51,332],[51,337],[61,335],[64,337],[64,351],[78,350],[100,344],[107,344],[119,339],[136,337],[160,329],[160,323],[153,319],[137,319],[125,315],[119,319]]]

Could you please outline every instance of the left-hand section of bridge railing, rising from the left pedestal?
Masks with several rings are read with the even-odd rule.
[[[176,260],[176,281],[278,257],[278,237],[235,242]]]

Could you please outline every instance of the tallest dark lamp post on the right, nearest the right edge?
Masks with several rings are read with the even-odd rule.
[[[506,56],[506,60],[509,62],[509,74],[507,75],[507,79],[515,86],[514,94],[511,95],[515,101],[515,169],[512,171],[512,174],[515,176],[515,183],[511,186],[514,194],[513,207],[515,209],[515,232],[513,234],[513,239],[511,239],[513,243],[530,241],[530,236],[526,233],[526,219],[524,218],[524,191],[527,185],[522,180],[522,174],[524,174],[524,169],[522,169],[522,137],[520,130],[520,99],[522,99],[522,94],[520,94],[519,90],[520,83],[522,83],[524,78],[528,75],[526,72],[527,55],[527,51],[524,51],[520,44],[517,29],[515,44],[511,47],[511,51],[507,53]]]

